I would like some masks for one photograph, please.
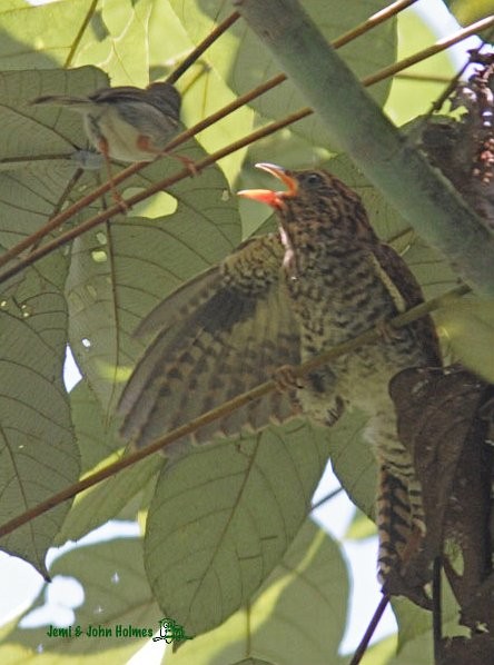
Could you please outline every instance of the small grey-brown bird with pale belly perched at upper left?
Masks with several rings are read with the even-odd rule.
[[[156,82],[146,89],[101,88],[87,97],[47,95],[31,103],[66,106],[81,113],[88,139],[105,158],[110,181],[110,159],[151,161],[180,126],[181,99],[171,83]]]

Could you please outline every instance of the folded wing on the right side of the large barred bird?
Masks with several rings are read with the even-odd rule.
[[[424,295],[415,276],[389,245],[377,245],[374,258],[379,277],[395,304],[397,314],[424,302]],[[441,367],[439,343],[432,318],[429,316],[422,317],[411,324],[408,328],[421,345],[431,366]]]

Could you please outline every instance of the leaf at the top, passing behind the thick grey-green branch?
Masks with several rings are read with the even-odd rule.
[[[198,6],[172,0],[171,6],[196,44],[219,21],[231,13],[231,6],[220,0]],[[381,0],[370,0],[366,3],[347,1],[344,4],[334,0],[306,0],[304,2],[304,9],[317,22],[318,28],[329,41],[365,21],[386,6],[387,2]],[[340,53],[358,77],[365,77],[388,66],[394,62],[396,56],[395,21],[392,19],[352,41],[342,48]],[[279,66],[270,52],[241,20],[237,21],[226,36],[223,36],[208,49],[206,58],[238,95],[245,93],[280,73]],[[384,103],[388,90],[389,82],[385,81],[373,87],[372,95],[379,103]],[[261,117],[279,119],[305,108],[307,102],[289,81],[285,81],[275,90],[251,101],[250,105]],[[293,131],[297,136],[303,136],[314,146],[327,147],[328,136],[323,123],[315,116],[298,121],[293,126]]]

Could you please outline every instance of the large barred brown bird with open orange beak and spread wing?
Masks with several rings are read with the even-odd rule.
[[[388,383],[406,367],[441,365],[435,330],[429,318],[386,330],[384,321],[421,302],[422,292],[401,257],[379,241],[354,191],[323,170],[257,166],[286,190],[239,193],[275,208],[279,232],[246,242],[144,321],[141,331],[158,334],[125,388],[122,434],[146,445],[270,378],[277,367],[381,327],[379,341],[312,373],[302,388],[294,384],[235,411],[219,426],[226,433],[263,427],[271,416],[283,420],[300,407],[312,420],[330,426],[345,409],[365,411],[381,474],[384,579],[412,535],[425,529],[421,487],[397,437]],[[211,425],[198,436],[204,440],[214,431]]]

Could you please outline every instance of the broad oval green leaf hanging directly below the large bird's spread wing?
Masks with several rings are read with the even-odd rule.
[[[297,534],[325,461],[324,436],[294,420],[166,466],[145,540],[165,614],[199,634],[246,603]]]

